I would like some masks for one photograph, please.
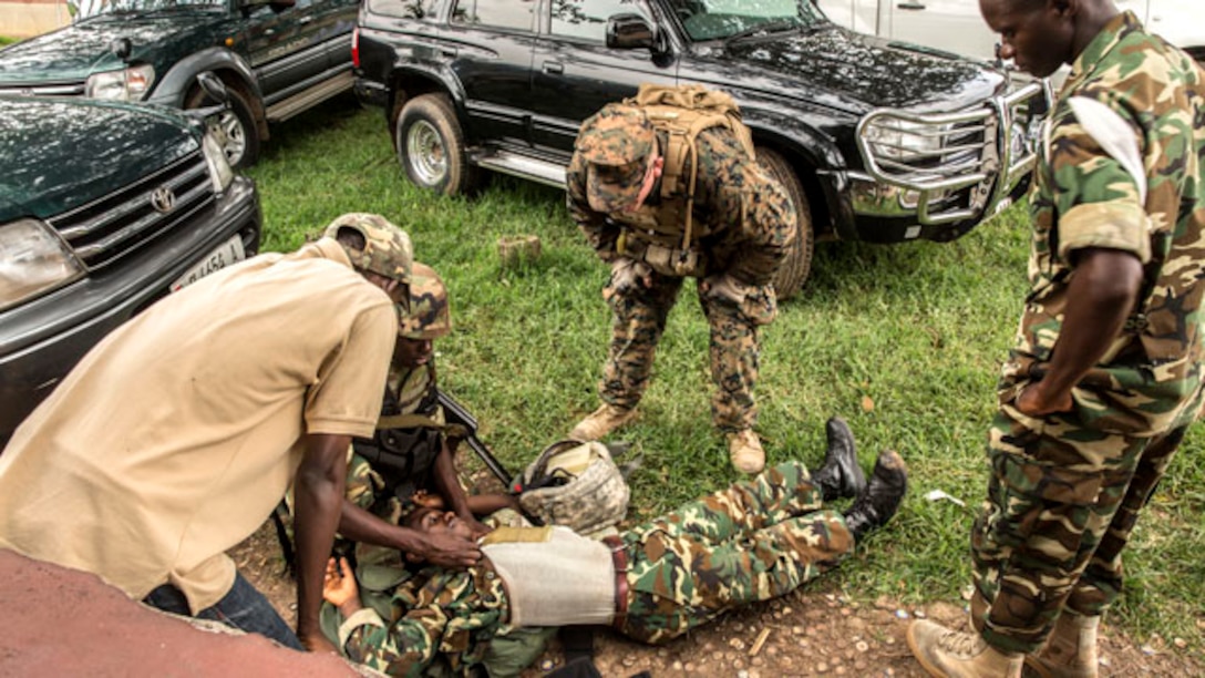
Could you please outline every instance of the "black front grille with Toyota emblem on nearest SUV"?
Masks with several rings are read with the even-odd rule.
[[[169,201],[171,206],[165,209]],[[117,193],[54,217],[51,226],[89,270],[96,270],[187,223],[212,203],[208,168],[196,152]]]

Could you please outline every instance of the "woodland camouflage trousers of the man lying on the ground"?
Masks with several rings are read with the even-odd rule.
[[[801,463],[787,462],[623,533],[621,631],[664,643],[735,607],[798,589],[853,550]]]

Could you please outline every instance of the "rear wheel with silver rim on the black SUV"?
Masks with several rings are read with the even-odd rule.
[[[469,163],[464,131],[443,94],[406,101],[398,115],[398,162],[416,186],[445,195],[472,192],[480,170]]]

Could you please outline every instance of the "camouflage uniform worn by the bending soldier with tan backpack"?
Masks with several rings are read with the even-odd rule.
[[[662,148],[666,135],[657,133]],[[727,129],[712,128],[698,136],[698,180],[694,228],[706,233],[699,246],[709,280],[727,273],[733,290],[705,291],[699,299],[711,327],[711,376],[716,392],[712,419],[725,432],[752,428],[757,420],[753,386],[758,375],[758,327],[771,322],[777,303],[771,281],[795,236],[795,217],[783,188],[757,163]],[[569,165],[568,198],[574,221],[602,261],[619,255],[616,246],[623,222],[639,222],[656,209],[659,186],[646,208],[635,214],[600,214],[587,200],[587,163],[580,153]],[[689,176],[689,162],[682,176]],[[677,300],[682,277],[652,273],[652,287],[619,286],[612,276],[602,297],[615,314],[611,345],[604,366],[600,397],[634,408],[648,384],[653,353]],[[727,293],[725,293],[727,292]]]

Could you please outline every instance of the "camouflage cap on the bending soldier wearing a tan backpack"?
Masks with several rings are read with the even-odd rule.
[[[574,148],[587,163],[586,198],[592,209],[617,212],[640,195],[657,134],[635,106],[609,104],[582,123]]]

